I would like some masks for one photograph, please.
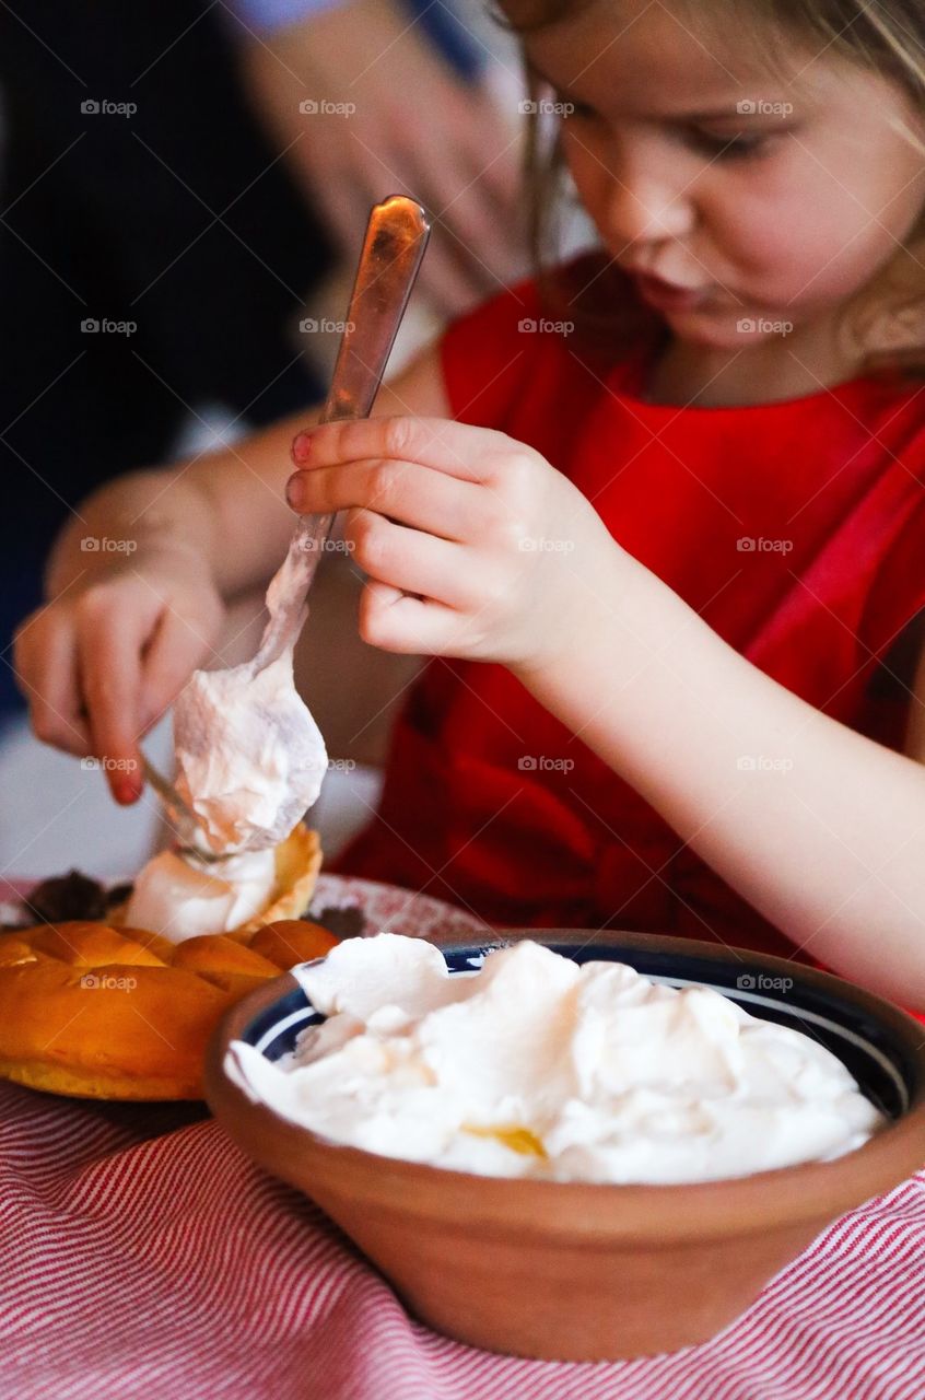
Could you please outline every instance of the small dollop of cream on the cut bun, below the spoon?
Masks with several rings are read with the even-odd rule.
[[[179,944],[246,923],[270,904],[274,889],[271,850],[234,855],[214,865],[161,851],[139,874],[125,921]]]

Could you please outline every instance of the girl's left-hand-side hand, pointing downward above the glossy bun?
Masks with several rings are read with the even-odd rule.
[[[106,563],[34,612],[15,669],[39,739],[98,757],[118,802],[144,787],[139,741],[218,636],[224,605],[185,550]]]

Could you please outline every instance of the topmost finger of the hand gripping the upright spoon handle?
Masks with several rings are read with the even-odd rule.
[[[305,447],[306,440],[311,445]],[[311,433],[299,433],[297,442],[305,454],[295,465],[313,470],[318,466],[343,466],[344,462],[389,459],[418,462],[455,476],[460,482],[491,484],[505,452],[525,449],[494,428],[477,428],[449,419],[353,419],[323,423]]]

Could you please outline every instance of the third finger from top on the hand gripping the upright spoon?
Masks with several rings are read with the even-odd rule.
[[[473,577],[463,545],[407,529],[365,510],[348,512],[344,536],[354,546],[353,560],[378,582],[449,608],[477,606],[480,580]]]

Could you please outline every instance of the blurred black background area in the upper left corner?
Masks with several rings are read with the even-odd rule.
[[[0,94],[6,655],[70,504],[162,459],[196,406],[259,426],[323,392],[285,325],[334,248],[248,104],[221,7],[3,7]],[[81,329],[104,319],[137,329]]]

